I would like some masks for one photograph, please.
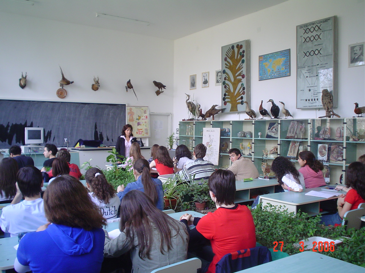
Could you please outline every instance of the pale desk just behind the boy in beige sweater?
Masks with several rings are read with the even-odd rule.
[[[259,192],[274,193],[275,186],[279,185],[276,179],[259,179],[255,178],[253,181],[244,182],[243,180],[236,181],[236,195],[234,198],[235,203],[252,201],[253,195],[259,194]]]

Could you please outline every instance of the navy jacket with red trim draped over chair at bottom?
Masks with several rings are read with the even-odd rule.
[[[215,265],[215,273],[234,273],[271,261],[271,253],[266,246],[238,250],[224,255]]]

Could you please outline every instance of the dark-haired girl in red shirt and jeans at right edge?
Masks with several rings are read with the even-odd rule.
[[[341,224],[343,215],[349,210],[357,209],[360,203],[365,203],[365,165],[353,162],[346,170],[346,187],[351,189],[341,194],[337,199],[337,212],[321,216],[320,223],[324,225]]]

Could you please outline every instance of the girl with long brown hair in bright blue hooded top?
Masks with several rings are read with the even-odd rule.
[[[45,191],[44,207],[49,223],[20,240],[15,270],[99,273],[106,220],[82,183],[70,175],[55,178]]]

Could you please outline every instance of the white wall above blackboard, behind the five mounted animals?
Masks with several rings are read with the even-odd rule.
[[[0,98],[127,103],[172,112],[173,41],[34,17],[0,13]],[[59,99],[61,73],[74,83]],[[19,87],[27,72],[27,86]],[[91,89],[99,76],[100,88]],[[124,86],[128,79],[132,91]],[[152,81],[164,83],[156,96]],[[163,107],[161,107],[163,105]]]

